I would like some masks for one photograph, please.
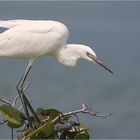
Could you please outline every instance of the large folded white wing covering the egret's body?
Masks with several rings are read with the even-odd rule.
[[[8,23],[4,26],[10,29],[0,34],[0,56],[24,59],[44,56],[65,44],[68,37],[67,28],[57,22]]]

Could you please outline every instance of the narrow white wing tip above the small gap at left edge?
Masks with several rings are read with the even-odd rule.
[[[0,20],[0,27],[3,28],[12,28],[19,25],[23,25],[26,23],[32,22],[31,20]]]

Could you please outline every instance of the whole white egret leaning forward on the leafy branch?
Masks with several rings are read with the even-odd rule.
[[[0,20],[0,27],[7,28],[0,34],[0,56],[28,60],[26,70],[17,85],[28,120],[30,116],[27,107],[34,115],[35,113],[24,95],[23,88],[27,75],[38,58],[53,56],[70,67],[74,67],[78,59],[85,59],[113,73],[97,59],[90,47],[66,44],[69,30],[63,23],[51,20]],[[39,122],[37,117],[36,119]]]

